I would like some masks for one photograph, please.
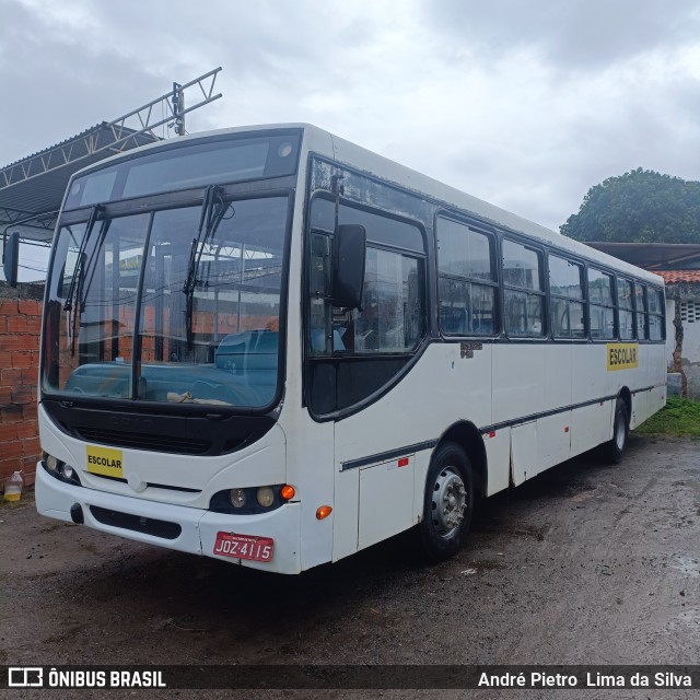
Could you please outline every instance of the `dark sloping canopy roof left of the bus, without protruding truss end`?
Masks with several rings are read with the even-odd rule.
[[[49,240],[55,215],[70,176],[116,152],[160,140],[152,132],[103,121],[56,145],[27,155],[0,170],[0,233],[11,224],[23,238]],[[110,144],[115,148],[109,148]],[[25,221],[35,217],[31,221]],[[22,223],[23,222],[23,223]],[[22,225],[19,225],[21,224]]]

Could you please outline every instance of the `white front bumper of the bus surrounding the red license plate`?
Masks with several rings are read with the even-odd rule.
[[[36,465],[36,510],[39,514],[72,522],[70,511],[74,504],[81,506],[84,524],[88,527],[104,533],[167,549],[223,559],[262,571],[277,573],[301,571],[300,503],[287,503],[270,513],[256,515],[212,513],[186,505],[147,501],[71,486],[49,475],[39,462]],[[100,509],[102,512],[116,514],[112,522],[121,523],[121,525],[105,523],[105,518],[100,515]],[[95,513],[101,520],[95,517]],[[153,521],[178,525],[179,534],[173,537],[171,533],[167,537],[163,537],[133,529],[129,525],[138,522],[147,527],[148,523]],[[170,529],[173,530],[172,527]],[[272,538],[275,540],[272,559],[268,562],[257,562],[214,555],[213,548],[219,532]]]

